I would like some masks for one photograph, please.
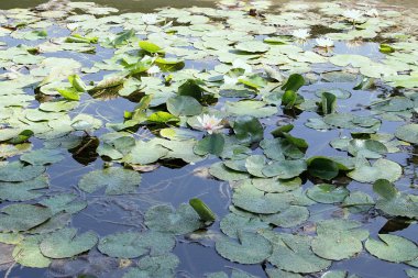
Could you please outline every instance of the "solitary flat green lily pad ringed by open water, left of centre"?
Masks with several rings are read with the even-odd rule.
[[[106,168],[85,175],[78,182],[78,187],[91,193],[106,187],[107,194],[125,194],[135,192],[141,182],[141,174],[123,168]]]

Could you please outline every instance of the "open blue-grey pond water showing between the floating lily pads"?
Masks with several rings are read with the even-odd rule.
[[[12,8],[28,8],[34,7],[43,1],[40,0],[21,0],[9,1],[0,0],[0,9]],[[108,4],[120,9],[121,12],[135,12],[135,11],[151,11],[158,7],[213,7],[213,1],[166,1],[166,0],[153,0],[153,1],[127,1],[127,0],[98,0],[98,3]],[[388,1],[389,2],[389,1]],[[391,1],[393,2],[393,1]],[[416,4],[416,1],[397,1],[405,4],[405,7]],[[48,32],[50,33],[50,32]],[[59,35],[63,35],[59,33]],[[19,41],[10,41],[9,45],[18,44]],[[309,46],[308,46],[309,47]],[[355,49],[348,49],[343,44],[337,45],[336,53],[360,53],[373,58],[380,58],[381,53],[377,49],[377,44],[369,43],[362,47]],[[51,54],[53,55],[53,54]],[[78,60],[84,60],[84,66],[90,66],[92,59],[97,57],[89,54],[59,54],[64,57],[73,57]],[[75,57],[78,56],[78,57]],[[89,65],[90,64],[90,65]],[[195,65],[189,65],[195,66]],[[100,80],[102,76],[90,75],[87,76],[88,80]],[[304,87],[301,94],[311,98],[316,90],[321,88],[341,88],[351,90],[354,87],[354,82],[343,84],[316,84]],[[339,100],[340,112],[349,112],[358,108],[358,104],[364,104],[374,99],[377,99],[381,91],[352,91],[353,94],[348,100]],[[367,96],[367,97],[365,97]],[[88,98],[88,97],[86,97]],[[82,101],[81,101],[82,103]],[[33,103],[36,107],[38,103]],[[91,104],[80,105],[74,113],[80,111],[90,113],[96,116],[100,116],[103,122],[121,122],[123,121],[123,111],[132,110],[136,103],[130,102],[127,99],[118,98],[107,101],[95,101]],[[309,143],[307,156],[312,155],[336,155],[338,152],[328,145],[331,138],[339,136],[340,131],[320,132],[312,129],[305,127],[304,123],[307,119],[312,118],[315,113],[304,112],[295,121],[295,130],[293,135],[304,137]],[[271,130],[275,127],[276,119],[266,119],[264,123],[271,126]],[[382,132],[393,133],[396,126],[400,125],[400,122],[392,122],[382,126]],[[98,131],[96,136],[100,135]],[[267,129],[266,132],[270,132]],[[145,134],[146,135],[146,134]],[[349,135],[346,132],[345,135]],[[35,141],[34,148],[42,145],[41,141]],[[91,158],[91,157],[90,157]],[[413,156],[406,153],[393,154],[388,156],[389,159],[396,160],[405,169],[415,169],[417,166],[413,163]],[[47,168],[47,174],[51,177],[51,185],[53,190],[68,190],[75,188],[80,177],[92,169],[101,168],[105,164],[100,157],[94,159],[87,165],[84,165],[74,159],[73,154],[68,153],[66,159],[61,163],[54,164]],[[81,211],[73,218],[73,225],[79,227],[80,231],[87,231],[94,229],[100,236],[111,234],[119,231],[127,230],[140,230],[142,215],[140,212],[144,212],[150,205],[157,203],[169,202],[177,207],[179,203],[187,202],[190,198],[199,197],[202,199],[219,216],[222,216],[229,212],[228,205],[230,203],[230,194],[228,193],[230,187],[228,182],[221,182],[215,179],[208,179],[205,177],[198,177],[195,175],[197,168],[209,166],[213,160],[205,160],[196,165],[186,165],[182,168],[170,168],[162,166],[160,169],[143,174],[143,180],[138,193],[130,197],[102,197],[101,192],[89,197],[88,209]],[[408,179],[409,178],[409,179]],[[406,177],[398,181],[400,190],[408,190],[411,184],[411,177]],[[417,182],[417,180],[415,180]],[[414,184],[414,180],[413,180]],[[304,187],[310,187],[312,184],[307,181]],[[364,189],[364,187],[369,187]],[[365,192],[372,192],[370,185],[363,185],[352,181],[349,186],[350,190],[362,189]],[[0,204],[1,207],[1,204]],[[338,208],[333,205],[317,204],[309,208],[311,211],[310,221],[315,221],[317,218],[323,215],[331,215],[338,212]],[[387,220],[384,218],[374,218],[369,215],[367,227],[371,231],[371,235],[375,236],[380,230],[386,224]],[[360,219],[365,221],[365,219]],[[135,224],[136,223],[136,224]],[[219,230],[219,222],[215,223],[211,227]],[[418,229],[416,225],[410,225],[405,230],[400,230],[395,234],[405,236],[411,241],[418,241]],[[179,277],[202,277],[206,273],[224,270],[226,266],[235,267],[253,275],[264,277],[264,270],[261,265],[243,266],[230,263],[229,260],[220,257],[213,246],[202,246],[198,243],[188,241],[179,241],[175,247],[174,253],[180,258],[180,266],[178,267]],[[333,263],[331,269],[350,270],[353,274],[363,278],[377,278],[377,277],[405,277],[405,265],[391,264],[376,259],[367,253],[362,253],[359,257],[346,259],[340,263]],[[0,271],[1,275],[6,274],[6,270]],[[41,278],[51,277],[45,269],[31,269],[14,267],[9,278]],[[118,274],[112,277],[118,277]]]

